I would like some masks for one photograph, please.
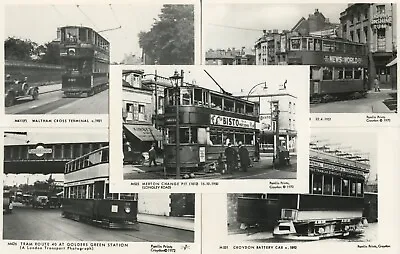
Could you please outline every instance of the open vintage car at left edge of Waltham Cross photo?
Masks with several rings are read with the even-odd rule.
[[[14,105],[19,99],[37,100],[39,97],[39,87],[29,85],[27,78],[24,80],[11,80],[7,75],[4,88],[6,107]]]

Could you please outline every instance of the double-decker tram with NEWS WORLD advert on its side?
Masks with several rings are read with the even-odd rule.
[[[366,96],[367,48],[338,38],[295,36],[289,39],[287,63],[310,65],[310,102]]]

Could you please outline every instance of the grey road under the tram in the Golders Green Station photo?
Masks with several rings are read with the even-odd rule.
[[[194,232],[139,224],[136,230],[104,229],[61,217],[60,209],[33,209],[18,205],[3,216],[5,240],[193,242]]]

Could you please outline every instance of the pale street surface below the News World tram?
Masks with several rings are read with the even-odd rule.
[[[396,99],[394,99],[395,97]],[[384,101],[391,100],[396,106],[388,108]],[[397,109],[397,90],[381,89],[369,91],[366,98],[311,104],[311,113],[395,113]]]

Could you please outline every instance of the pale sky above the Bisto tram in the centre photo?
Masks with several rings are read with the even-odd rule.
[[[207,67],[188,67],[188,66],[138,66],[144,70],[145,74],[157,74],[163,77],[170,77],[175,70],[184,70],[184,81],[196,85],[220,91],[218,86],[204,72],[204,69],[223,87],[224,90],[233,94],[248,94],[251,88],[262,82],[267,82],[267,90],[263,85],[256,86],[252,94],[275,93],[278,92],[282,84],[287,80],[287,92],[296,96],[300,89],[308,85],[308,74],[304,75],[304,66],[207,66]],[[291,70],[288,70],[291,68]],[[305,67],[306,68],[306,67]],[[236,75],[240,73],[240,75]],[[302,80],[301,80],[302,79]],[[305,84],[301,84],[301,82]]]

